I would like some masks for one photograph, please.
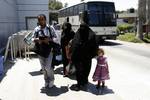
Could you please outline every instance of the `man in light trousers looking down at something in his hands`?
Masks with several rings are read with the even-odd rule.
[[[38,15],[38,26],[34,29],[35,52],[39,56],[40,64],[44,73],[45,87],[51,88],[54,85],[54,71],[51,67],[53,53],[52,43],[56,37],[52,27],[46,24],[46,16]]]

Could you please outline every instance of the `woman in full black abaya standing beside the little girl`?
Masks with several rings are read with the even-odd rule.
[[[97,48],[95,33],[87,24],[82,23],[72,42],[71,59],[76,67],[77,79],[77,84],[72,86],[74,90],[78,91],[88,84],[91,62],[96,56]]]

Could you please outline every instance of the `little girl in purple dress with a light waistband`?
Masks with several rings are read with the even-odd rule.
[[[109,70],[107,59],[104,56],[104,50],[102,48],[98,49],[97,65],[95,72],[93,74],[93,81],[98,81],[96,88],[98,89],[102,84],[105,87],[105,80],[109,79]]]

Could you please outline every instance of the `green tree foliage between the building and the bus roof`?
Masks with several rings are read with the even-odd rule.
[[[49,2],[49,9],[51,9],[51,10],[59,10],[62,7],[63,7],[63,4],[60,1],[50,1]]]

